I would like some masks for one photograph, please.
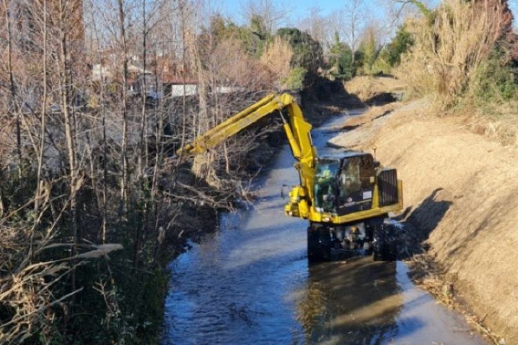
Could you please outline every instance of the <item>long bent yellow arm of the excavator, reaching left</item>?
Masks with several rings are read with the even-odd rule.
[[[207,152],[227,138],[244,130],[244,128],[281,110],[287,110],[287,119],[282,116],[282,112],[280,113],[283,121],[282,127],[287,136],[291,152],[297,160],[295,168],[300,176],[300,186],[296,186],[291,191],[290,202],[285,210],[289,215],[307,218],[313,198],[314,164],[318,155],[311,141],[312,126],[305,121],[303,113],[292,95],[287,93],[268,95],[218,126],[211,128],[200,137],[195,138],[193,142],[180,148],[177,155],[186,157]]]

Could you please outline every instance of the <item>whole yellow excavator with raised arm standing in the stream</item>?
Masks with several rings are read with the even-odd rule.
[[[394,168],[383,168],[366,152],[318,157],[296,99],[287,93],[268,95],[211,128],[177,151],[200,155],[258,120],[278,112],[282,119],[300,184],[289,193],[285,213],[309,220],[310,262],[372,253],[374,260],[397,257],[396,226],[389,214],[403,209],[403,184]]]

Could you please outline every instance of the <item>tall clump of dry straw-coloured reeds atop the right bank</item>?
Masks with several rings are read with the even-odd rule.
[[[490,56],[501,25],[501,5],[445,0],[432,25],[429,19],[407,23],[415,43],[396,75],[415,95],[431,92],[437,103],[450,106]]]

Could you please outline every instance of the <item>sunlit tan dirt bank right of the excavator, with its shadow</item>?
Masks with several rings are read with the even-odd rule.
[[[332,144],[372,152],[403,179],[407,228],[492,331],[518,344],[518,148],[437,117],[421,99],[354,119]],[[345,124],[347,125],[347,124]]]

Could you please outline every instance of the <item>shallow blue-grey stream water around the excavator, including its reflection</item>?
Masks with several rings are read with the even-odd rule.
[[[314,130],[320,154],[343,118]],[[163,344],[484,344],[407,277],[403,262],[308,266],[306,221],[285,217],[282,185],[298,183],[289,148],[248,210],[171,264]]]

